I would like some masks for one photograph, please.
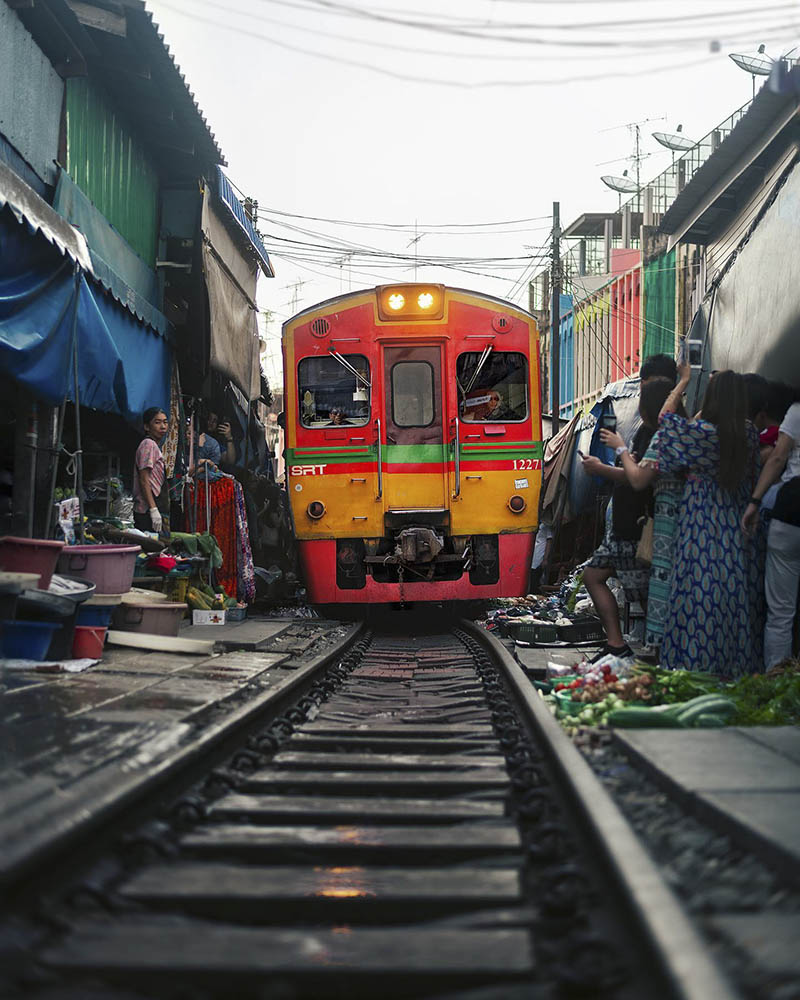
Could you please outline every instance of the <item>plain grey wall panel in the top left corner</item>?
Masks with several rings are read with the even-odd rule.
[[[0,132],[55,184],[64,81],[17,14],[0,3]]]

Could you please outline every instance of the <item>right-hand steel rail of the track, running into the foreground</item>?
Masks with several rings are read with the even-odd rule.
[[[708,946],[589,764],[553,718],[525,672],[490,632],[462,621],[501,667],[526,720],[541,739],[573,805],[597,840],[627,904],[680,1000],[739,1000]]]

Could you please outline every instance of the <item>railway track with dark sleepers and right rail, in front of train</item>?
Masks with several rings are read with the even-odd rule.
[[[168,822],[151,817],[126,852],[41,897],[6,988],[733,996],[557,730],[466,623],[363,635]]]

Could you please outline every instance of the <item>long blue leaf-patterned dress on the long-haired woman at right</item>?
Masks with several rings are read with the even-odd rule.
[[[758,434],[747,424],[748,466],[733,492],[717,482],[719,438],[705,420],[661,419],[658,470],[687,472],[675,532],[661,665],[736,677],[760,669],[762,555],[739,520],[758,474]]]

